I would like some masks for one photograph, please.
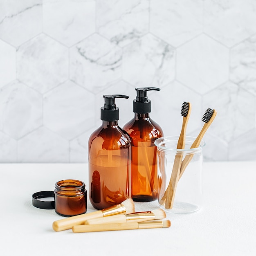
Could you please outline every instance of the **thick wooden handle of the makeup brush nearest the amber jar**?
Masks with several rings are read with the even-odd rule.
[[[92,218],[100,218],[103,217],[102,211],[94,211],[92,213],[84,213],[72,217],[68,217],[61,220],[56,220],[52,224],[52,228],[54,231],[62,231],[66,229],[71,229],[74,225],[84,224],[86,220]]]

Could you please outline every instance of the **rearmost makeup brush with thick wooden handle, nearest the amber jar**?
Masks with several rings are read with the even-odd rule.
[[[55,231],[62,231],[71,229],[74,225],[84,224],[86,220],[92,218],[102,218],[112,216],[120,213],[133,213],[135,211],[134,202],[131,198],[124,200],[121,204],[116,204],[111,207],[105,208],[101,211],[94,211],[91,213],[84,213],[61,220],[56,220],[52,224]]]

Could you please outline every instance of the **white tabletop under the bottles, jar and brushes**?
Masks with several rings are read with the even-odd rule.
[[[203,209],[167,213],[170,228],[79,234],[53,231],[52,222],[63,217],[33,207],[31,195],[63,179],[82,180],[88,191],[87,164],[0,167],[1,255],[256,255],[256,162],[205,162]],[[135,203],[135,211],[157,208],[157,201]]]

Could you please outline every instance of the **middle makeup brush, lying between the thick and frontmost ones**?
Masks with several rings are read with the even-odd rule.
[[[143,211],[130,214],[118,214],[106,218],[86,220],[85,224],[95,225],[103,223],[143,222],[147,220],[160,220],[164,218],[166,218],[165,211],[162,209],[156,209],[153,211]]]

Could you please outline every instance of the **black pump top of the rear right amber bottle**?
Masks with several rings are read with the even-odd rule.
[[[159,91],[156,87],[135,88],[137,91],[136,99],[133,100],[133,112],[146,114],[151,112],[151,101],[147,97],[147,91]]]

